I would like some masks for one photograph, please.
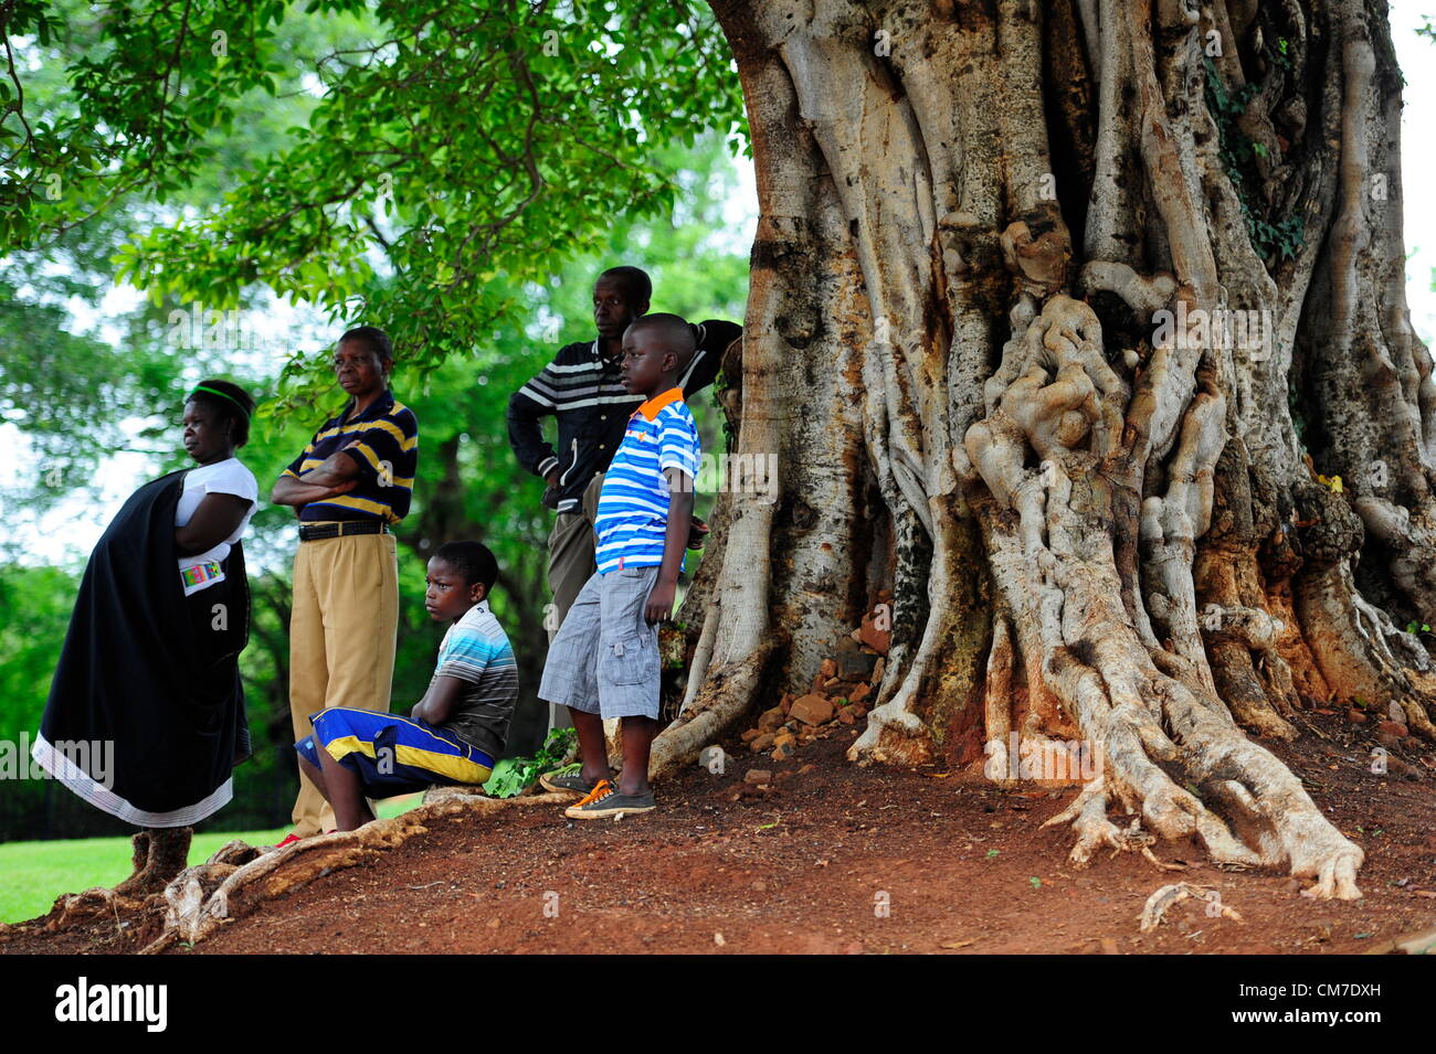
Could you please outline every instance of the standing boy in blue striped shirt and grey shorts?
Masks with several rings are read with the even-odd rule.
[[[597,572],[549,648],[538,698],[569,707],[582,771],[543,776],[549,790],[583,794],[564,815],[595,820],[653,809],[648,757],[658,733],[658,624],[673,611],[684,569],[701,449],[678,379],[694,356],[692,327],[642,315],[623,331],[623,387],[643,396],[613,455],[593,528]],[[603,720],[623,728],[623,770],[609,779]]]

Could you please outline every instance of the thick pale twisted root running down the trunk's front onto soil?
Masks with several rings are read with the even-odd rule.
[[[1315,879],[1314,896],[1360,896],[1361,850],[1277,757],[1242,734],[1211,688],[1211,674],[1167,673],[1183,658],[1205,668],[1190,552],[1211,518],[1211,473],[1222,449],[1218,394],[1190,397],[1180,427],[1180,416],[1155,407],[1176,442],[1166,493],[1146,498],[1140,532],[1147,578],[1166,598],[1160,622],[1169,640],[1179,638],[1169,644],[1178,654],[1159,668],[1134,631],[1104,529],[1113,488],[1094,472],[1094,460],[1113,456],[1124,440],[1120,414],[1113,420],[1097,396],[1124,391],[1093,356],[1099,337],[1086,304],[1050,300],[1008,344],[998,379],[1010,383],[992,393],[988,419],[966,440],[994,498],[1017,512],[1014,522],[989,511],[984,525],[1005,605],[1018,612],[1018,625],[1037,627],[1037,638],[1024,641],[1024,663],[1041,670],[1103,759],[1101,779],[1063,813],[1077,835],[1073,863],[1086,865],[1099,848],[1137,848],[1132,829],[1107,819],[1109,806],[1120,804],[1157,837],[1195,836],[1218,862],[1290,868]],[[1041,457],[1040,470],[1024,465],[1028,446]],[[1258,622],[1234,618],[1234,632],[1265,642],[1274,627]],[[1001,635],[997,647],[1004,647]],[[989,670],[989,688],[1002,680]]]

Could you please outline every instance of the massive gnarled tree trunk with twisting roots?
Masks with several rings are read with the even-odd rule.
[[[655,769],[887,587],[854,760],[1081,739],[1077,863],[1195,836],[1358,896],[1361,850],[1249,734],[1354,697],[1436,731],[1397,628],[1436,622],[1436,387],[1386,4],[714,7],[761,205],[738,452],[781,486],[724,499]]]

